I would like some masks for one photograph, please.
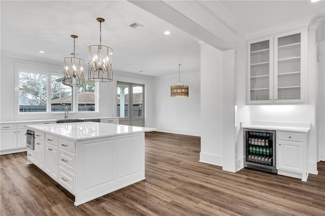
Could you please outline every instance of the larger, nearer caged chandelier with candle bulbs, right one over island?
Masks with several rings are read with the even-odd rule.
[[[97,18],[100,22],[100,45],[88,47],[88,80],[95,82],[113,81],[112,59],[113,49],[102,45],[103,18]]]

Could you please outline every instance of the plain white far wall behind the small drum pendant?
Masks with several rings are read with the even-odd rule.
[[[171,85],[178,75],[154,80],[155,128],[158,131],[200,136],[200,72],[181,72],[182,85],[188,85],[188,97],[171,97]]]

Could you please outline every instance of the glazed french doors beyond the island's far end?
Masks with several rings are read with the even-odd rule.
[[[117,82],[119,124],[144,127],[144,85]]]

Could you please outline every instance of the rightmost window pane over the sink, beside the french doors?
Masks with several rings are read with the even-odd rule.
[[[85,85],[78,88],[78,111],[95,111],[95,85],[94,82],[85,81]]]

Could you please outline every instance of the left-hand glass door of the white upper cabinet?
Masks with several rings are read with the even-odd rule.
[[[270,102],[272,90],[272,39],[248,44],[248,102]]]

